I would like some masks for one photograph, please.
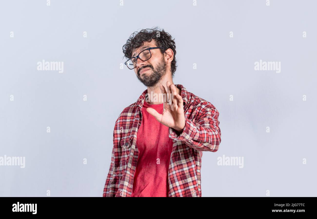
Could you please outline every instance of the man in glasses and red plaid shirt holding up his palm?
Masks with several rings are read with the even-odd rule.
[[[133,33],[123,46],[125,64],[147,90],[115,123],[104,197],[202,195],[202,152],[218,150],[219,113],[173,84],[175,48],[171,35],[157,28]]]

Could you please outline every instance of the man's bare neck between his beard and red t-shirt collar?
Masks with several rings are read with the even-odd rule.
[[[167,87],[166,87],[166,82],[167,81],[169,81],[171,84],[174,84],[171,74],[165,74],[161,78],[159,83],[157,83],[155,86],[147,87],[147,95],[149,97],[147,102],[149,104],[161,104],[161,103],[163,103],[161,98],[158,98],[161,95],[161,93],[162,93],[161,89],[159,88],[159,85],[162,84],[165,87],[165,90],[168,91]],[[177,87],[176,87],[176,90],[177,90],[177,93],[180,95],[181,94],[181,90],[178,89]],[[156,96],[156,98],[155,98],[155,96]]]

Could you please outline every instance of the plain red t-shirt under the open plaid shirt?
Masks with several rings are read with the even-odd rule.
[[[131,196],[168,197],[168,166],[173,140],[168,137],[169,128],[148,113],[147,107],[163,113],[163,103],[153,105],[144,101],[142,123],[137,132],[139,156]]]

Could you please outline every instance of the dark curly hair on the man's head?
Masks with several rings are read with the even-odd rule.
[[[158,27],[142,29],[139,32],[134,32],[130,35],[129,39],[126,41],[126,44],[123,45],[123,53],[126,59],[130,59],[132,57],[132,51],[134,49],[139,48],[143,45],[144,42],[151,42],[152,39],[155,40],[157,47],[162,47],[161,53],[165,53],[166,49],[171,48],[174,53],[173,61],[171,62],[171,73],[172,77],[176,71],[176,45],[175,38],[172,39],[172,36],[165,32],[164,29],[160,29]]]

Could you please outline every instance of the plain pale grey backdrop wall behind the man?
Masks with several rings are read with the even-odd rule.
[[[174,83],[220,113],[219,150],[203,152],[202,195],[317,195],[317,1],[123,3],[1,1],[0,156],[24,156],[25,168],[0,166],[0,196],[102,196],[114,123],[146,89],[120,69],[122,46],[153,26],[175,37]],[[64,73],[37,71],[43,59],[63,61]],[[255,71],[260,59],[281,61],[281,73]],[[244,167],[218,166],[223,155]]]

